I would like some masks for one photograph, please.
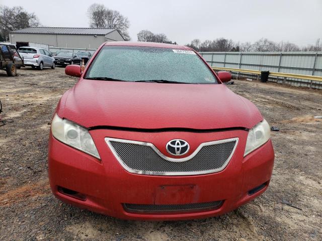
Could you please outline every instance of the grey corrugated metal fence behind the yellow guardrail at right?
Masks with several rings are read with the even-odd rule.
[[[215,67],[322,76],[322,52],[201,52],[200,54],[209,65]],[[270,80],[283,82],[283,79],[274,76],[270,77]],[[312,87],[322,88],[320,82],[305,79],[287,78],[286,83],[296,86],[311,84]]]

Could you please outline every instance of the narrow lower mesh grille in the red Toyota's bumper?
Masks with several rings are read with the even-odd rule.
[[[223,201],[160,205],[124,203],[123,207],[128,212],[184,212],[194,210],[216,210],[222,203]]]

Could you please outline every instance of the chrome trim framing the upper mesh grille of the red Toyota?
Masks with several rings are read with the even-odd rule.
[[[212,141],[212,142],[204,142],[199,145],[199,147],[188,157],[185,158],[170,158],[165,156],[163,153],[161,153],[152,143],[148,142],[139,142],[139,141],[131,141],[131,140],[124,140],[124,139],[116,139],[116,138],[105,138],[105,142],[109,146],[111,152],[115,156],[115,158],[118,160],[118,162],[122,165],[122,167],[127,170],[130,173],[135,173],[135,174],[143,174],[143,175],[157,175],[157,176],[183,176],[183,175],[200,175],[200,174],[207,174],[207,173],[215,173],[215,172],[220,172],[222,171],[229,163],[230,159],[232,158],[235,149],[238,144],[238,138],[229,138],[229,139],[224,139],[224,140],[218,140],[218,141]],[[212,146],[216,144],[222,144],[222,143],[228,143],[228,142],[235,142],[233,149],[228,156],[228,158],[225,160],[225,162],[216,169],[211,169],[211,170],[201,170],[201,171],[182,171],[182,172],[160,172],[160,171],[146,171],[146,170],[136,170],[130,168],[128,165],[126,165],[120,155],[117,153],[115,148],[112,146],[111,142],[120,142],[120,143],[129,143],[129,144],[136,144],[136,145],[142,145],[142,146],[148,146],[153,149],[153,151],[162,159],[170,162],[185,162],[193,159],[199,151],[206,146]]]

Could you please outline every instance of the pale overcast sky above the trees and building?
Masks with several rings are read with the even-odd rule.
[[[298,45],[322,41],[322,0],[0,0],[34,12],[48,27],[89,27],[87,9],[102,3],[130,21],[130,37],[143,29],[165,33],[179,44],[219,37],[254,42],[262,37]]]

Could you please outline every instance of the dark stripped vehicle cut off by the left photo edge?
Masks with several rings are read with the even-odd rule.
[[[5,70],[8,76],[16,76],[17,68],[23,66],[22,57],[17,52],[16,46],[0,43],[0,69]]]

